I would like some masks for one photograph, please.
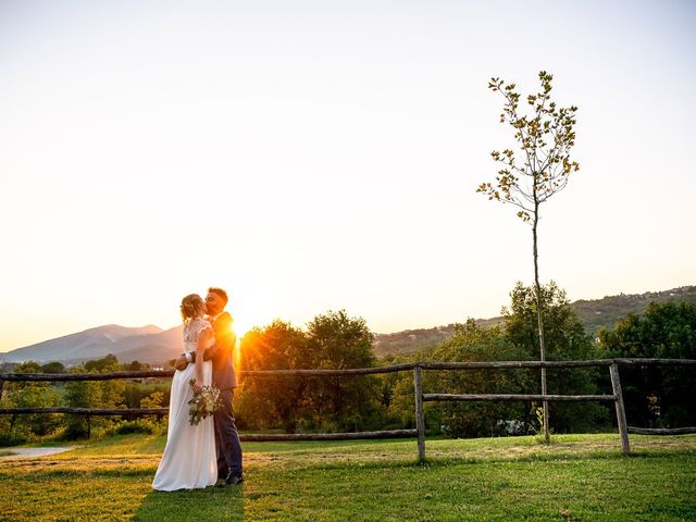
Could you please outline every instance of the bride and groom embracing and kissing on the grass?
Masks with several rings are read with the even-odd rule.
[[[241,445],[232,412],[237,378],[233,364],[236,335],[225,311],[227,294],[209,288],[206,301],[192,294],[182,300],[184,350],[172,380],[166,447],[152,487],[161,492],[214,485],[234,486],[244,480]],[[195,380],[192,386],[189,381]],[[191,425],[188,402],[202,386],[220,389],[221,406],[212,418]]]

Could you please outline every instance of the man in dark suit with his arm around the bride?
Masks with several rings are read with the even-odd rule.
[[[204,359],[213,362],[213,384],[220,388],[222,406],[213,413],[215,424],[215,452],[217,453],[217,477],[222,487],[235,486],[244,480],[241,473],[241,445],[232,412],[232,399],[237,387],[233,352],[237,336],[232,330],[232,315],[225,312],[227,293],[211,287],[206,296],[208,320],[213,326],[215,345],[206,351]],[[196,353],[186,353],[176,360],[177,370],[196,362]]]

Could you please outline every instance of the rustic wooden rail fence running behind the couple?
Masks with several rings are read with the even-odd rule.
[[[345,440],[360,438],[400,438],[415,437],[418,439],[419,461],[425,460],[425,418],[423,402],[427,401],[497,401],[497,400],[533,400],[533,401],[613,401],[617,413],[617,424],[621,438],[621,449],[624,453],[631,451],[629,433],[647,435],[674,435],[696,433],[696,427],[682,428],[644,428],[626,425],[623,394],[619,377],[619,366],[624,365],[696,365],[696,360],[691,359],[596,359],[586,361],[485,361],[485,362],[410,362],[381,368],[360,368],[347,370],[265,370],[240,371],[241,377],[272,377],[272,376],[355,376],[373,375],[394,372],[413,372],[413,393],[415,406],[414,430],[390,430],[378,432],[359,433],[314,433],[314,434],[246,434],[240,435],[243,442],[264,440]],[[482,369],[542,369],[542,368],[591,368],[606,366],[611,378],[611,395],[538,395],[538,394],[424,394],[423,371],[443,370],[482,370]],[[125,378],[171,378],[174,370],[151,370],[141,372],[113,372],[113,373],[5,373],[0,374],[0,398],[2,386],[7,382],[67,382],[67,381],[111,381]],[[163,417],[169,413],[167,408],[132,408],[132,409],[89,409],[89,408],[0,408],[0,414],[17,413],[73,413],[86,415],[89,420],[94,415],[122,415],[136,418],[144,415]]]

